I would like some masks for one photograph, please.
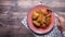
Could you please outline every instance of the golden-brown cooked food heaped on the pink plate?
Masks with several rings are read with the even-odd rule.
[[[38,28],[46,28],[51,23],[51,10],[39,9],[32,12],[32,24]]]

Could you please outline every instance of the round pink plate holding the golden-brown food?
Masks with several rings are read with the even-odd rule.
[[[34,24],[32,24],[32,18],[31,18],[31,16],[32,16],[34,11],[35,11],[35,10],[39,10],[39,9],[43,9],[43,10],[44,10],[44,9],[48,9],[48,10],[51,10],[49,7],[42,5],[42,4],[39,4],[39,5],[36,5],[36,7],[31,8],[31,9],[29,10],[28,14],[27,14],[28,27],[29,27],[34,33],[37,33],[37,34],[46,34],[46,33],[49,33],[49,32],[53,28],[54,23],[55,23],[55,16],[54,16],[53,12],[51,12],[51,13],[50,13],[50,14],[51,14],[51,23],[50,23],[50,25],[48,26],[48,28],[46,28],[46,29],[37,28],[37,27],[35,27]],[[52,11],[52,10],[51,10],[51,11]]]

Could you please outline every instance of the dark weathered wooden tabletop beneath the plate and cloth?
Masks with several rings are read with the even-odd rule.
[[[41,0],[0,0],[0,37],[35,37],[22,18]],[[65,17],[65,0],[42,0],[54,13]]]

